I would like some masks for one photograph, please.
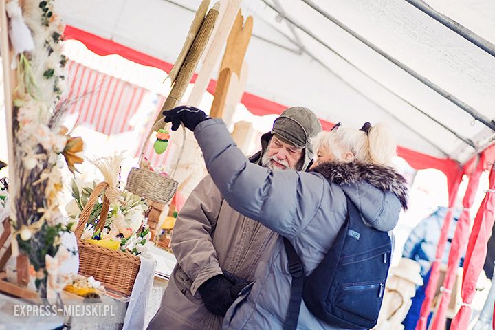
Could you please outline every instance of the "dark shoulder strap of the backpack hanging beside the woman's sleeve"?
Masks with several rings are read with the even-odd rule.
[[[292,276],[291,296],[289,300],[289,307],[287,308],[287,316],[285,316],[284,330],[296,330],[299,318],[300,303],[303,299],[303,287],[304,287],[304,267],[303,262],[300,261],[299,256],[292,246],[292,243],[285,237],[283,237],[285,252],[287,252],[287,259],[289,259],[289,273]]]

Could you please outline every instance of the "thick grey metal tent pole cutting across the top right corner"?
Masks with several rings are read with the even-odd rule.
[[[486,39],[481,38],[481,36],[478,36],[478,34],[472,32],[468,28],[465,28],[465,26],[457,23],[453,19],[450,19],[450,17],[445,16],[441,12],[437,12],[437,10],[434,10],[432,7],[430,7],[430,5],[425,3],[423,0],[406,0],[406,1],[411,5],[414,5],[417,9],[421,10],[421,12],[424,12],[432,19],[438,21],[439,23],[442,23],[450,30],[456,32],[456,34],[459,34],[459,36],[462,36],[464,39],[467,39],[474,45],[480,47],[488,54],[495,56],[495,45],[493,43],[490,43]]]

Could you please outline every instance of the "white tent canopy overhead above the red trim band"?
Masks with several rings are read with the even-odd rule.
[[[401,146],[465,162],[495,136],[488,127],[495,127],[495,57],[409,2],[422,3],[243,1],[243,15],[254,17],[247,91],[287,106],[305,105],[323,120],[345,126],[388,122]],[[65,0],[58,5],[68,25],[174,63],[199,3]],[[486,45],[495,44],[494,1],[426,3]]]

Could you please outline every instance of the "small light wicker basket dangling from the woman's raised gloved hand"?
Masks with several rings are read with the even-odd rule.
[[[144,144],[141,149],[141,155],[139,164],[142,167],[142,161],[144,159],[144,150],[146,148],[146,144],[148,143],[149,137],[151,133],[153,133],[154,128],[148,133],[148,137],[144,140]],[[168,204],[170,199],[177,192],[177,187],[179,183],[173,179],[175,172],[177,171],[177,167],[179,166],[179,162],[184,151],[184,145],[186,143],[186,129],[182,126],[182,146],[179,152],[179,157],[177,157],[177,162],[173,168],[172,175],[170,177],[166,177],[164,175],[160,175],[158,173],[153,172],[152,170],[148,170],[147,168],[131,168],[131,172],[129,172],[129,176],[127,177],[126,190],[132,192],[134,195],[140,196],[144,199],[148,199],[151,201],[156,201],[158,203]]]

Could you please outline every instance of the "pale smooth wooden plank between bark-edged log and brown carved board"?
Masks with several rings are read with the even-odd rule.
[[[225,41],[227,41],[227,36],[232,29],[232,24],[234,24],[240,6],[241,0],[220,1],[220,23],[215,25],[210,43],[206,46],[206,55],[188,98],[188,105],[199,107],[199,104],[201,104],[201,100],[208,87],[208,83],[210,83],[213,70],[219,62],[221,51],[223,50]]]

